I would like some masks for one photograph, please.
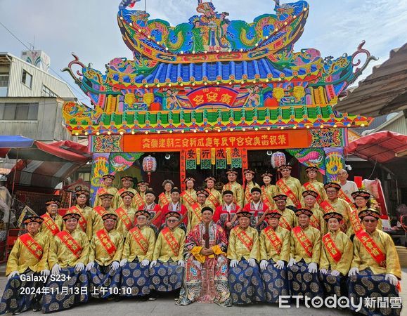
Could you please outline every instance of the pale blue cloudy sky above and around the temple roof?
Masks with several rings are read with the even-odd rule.
[[[146,0],[150,18],[176,25],[196,14],[196,0]],[[69,74],[60,72],[73,60],[71,52],[85,65],[104,72],[115,57],[131,58],[117,26],[120,0],[0,0],[0,22],[27,46],[45,51],[51,58],[50,73],[67,81],[79,100],[86,96]],[[217,11],[230,13],[230,20],[252,20],[273,13],[271,0],[213,0]],[[289,3],[280,0],[281,4]],[[292,1],[294,2],[294,1]],[[304,34],[294,48],[316,48],[323,57],[351,55],[365,40],[364,48],[379,60],[371,62],[363,79],[389,58],[389,52],[407,42],[407,0],[308,0],[310,10]],[[254,5],[255,4],[255,5]],[[144,2],[135,8],[143,10]],[[0,25],[0,51],[20,57],[26,50]]]

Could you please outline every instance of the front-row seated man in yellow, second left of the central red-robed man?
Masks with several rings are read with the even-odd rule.
[[[146,296],[150,294],[148,265],[153,259],[155,232],[147,226],[148,211],[136,211],[137,224],[129,230],[123,246],[122,285],[123,296]],[[135,276],[138,277],[135,277]]]

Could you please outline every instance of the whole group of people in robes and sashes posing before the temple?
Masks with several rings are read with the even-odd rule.
[[[279,171],[276,185],[264,173],[262,186],[250,169],[243,186],[228,171],[222,192],[213,177],[198,190],[186,178],[183,192],[166,180],[158,203],[148,183],[134,190],[124,176],[117,190],[105,175],[93,208],[80,189],[64,216],[51,199],[43,216],[24,220],[28,232],[8,258],[0,314],[53,312],[89,297],[155,300],[167,291],[179,305],[278,303],[285,295],[398,298],[399,259],[391,237],[377,229],[370,193],[349,197],[338,183],[319,183],[315,167],[306,169],[304,185],[290,176],[291,166]],[[23,294],[22,287],[42,291]]]

